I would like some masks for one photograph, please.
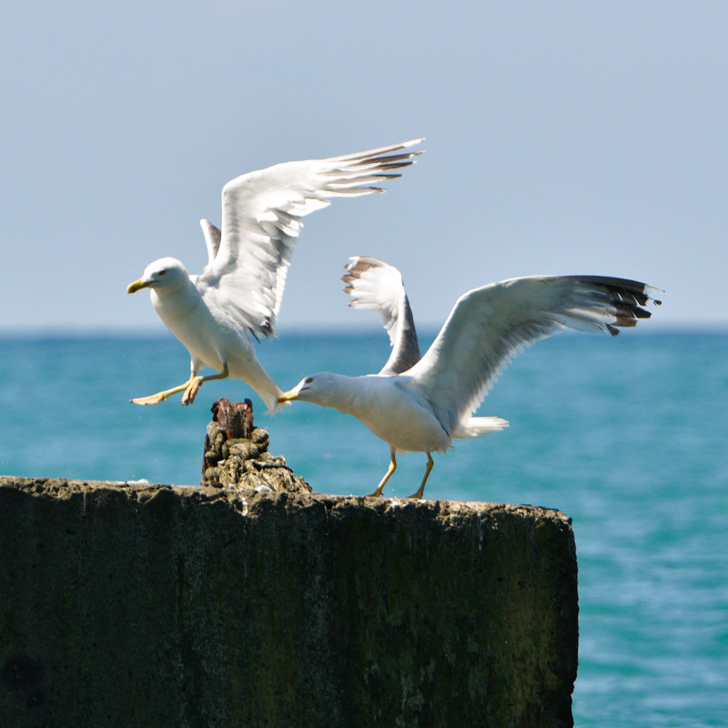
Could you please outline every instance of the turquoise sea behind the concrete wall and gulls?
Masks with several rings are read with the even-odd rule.
[[[425,337],[421,337],[425,339]],[[194,484],[209,406],[249,397],[206,384],[197,402],[130,404],[187,378],[159,337],[0,339],[0,472]],[[258,347],[283,389],[330,369],[376,371],[381,331],[288,332]],[[313,490],[367,493],[389,450],[357,420],[252,397],[270,450]],[[562,335],[522,353],[480,414],[511,427],[436,455],[429,498],[558,508],[579,558],[577,726],[728,726],[728,335]],[[385,494],[416,490],[401,456]]]

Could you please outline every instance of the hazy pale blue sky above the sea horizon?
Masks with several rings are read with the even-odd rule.
[[[374,325],[351,255],[420,326],[534,273],[666,289],[728,325],[728,3],[25,2],[0,13],[0,329],[162,329],[126,284],[199,272],[227,179],[426,136],[382,196],[307,217],[279,328]]]

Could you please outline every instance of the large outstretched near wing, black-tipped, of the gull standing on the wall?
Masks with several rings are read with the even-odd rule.
[[[651,314],[656,288],[623,278],[530,276],[474,288],[461,296],[437,339],[410,369],[452,433],[485,397],[501,369],[524,346],[565,328],[609,331]]]

